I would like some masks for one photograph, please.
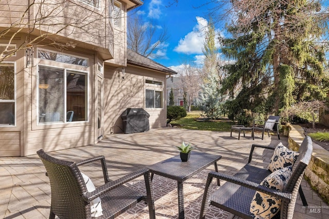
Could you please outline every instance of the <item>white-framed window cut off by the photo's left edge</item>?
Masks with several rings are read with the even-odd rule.
[[[15,65],[0,63],[0,125],[15,125]]]

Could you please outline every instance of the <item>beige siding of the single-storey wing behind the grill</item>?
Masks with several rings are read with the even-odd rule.
[[[105,135],[123,132],[121,113],[126,108],[145,109],[145,79],[160,81],[166,86],[166,74],[149,69],[127,66],[125,77],[122,68],[105,66],[104,74],[104,132]],[[163,90],[163,108],[145,109],[149,114],[150,128],[166,126],[166,101]]]

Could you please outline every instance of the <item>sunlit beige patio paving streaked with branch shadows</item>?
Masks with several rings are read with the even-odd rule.
[[[234,174],[242,168],[248,160],[251,144],[277,145],[282,142],[287,145],[287,137],[281,140],[273,135],[265,136],[255,132],[252,140],[250,132],[246,137],[241,135],[237,140],[237,133],[186,130],[176,128],[152,129],[148,132],[133,134],[108,135],[97,145],[71,148],[49,152],[50,155],[70,161],[104,155],[111,180],[137,170],[142,167],[177,155],[179,152],[174,146],[183,140],[191,142],[198,151],[220,154],[222,159],[217,163],[218,171]],[[272,153],[258,149],[255,151],[254,165],[263,165],[269,161]],[[207,173],[213,166],[197,174],[185,182],[185,215],[186,218],[198,218],[202,201],[204,184]],[[90,164],[81,168],[81,171],[92,178],[96,186],[101,185],[102,171],[98,164]],[[48,218],[50,206],[50,186],[45,168],[37,155],[26,157],[0,158],[0,218]],[[141,178],[140,178],[141,179]],[[140,189],[140,181],[130,183]],[[329,218],[329,208],[316,192],[303,180],[302,188],[308,202],[308,208],[302,206],[300,197],[295,208],[294,218]],[[176,182],[161,176],[153,180],[157,218],[178,218]],[[233,215],[221,209],[210,208],[207,218],[232,218]],[[143,203],[121,214],[118,218],[148,218],[148,208]]]

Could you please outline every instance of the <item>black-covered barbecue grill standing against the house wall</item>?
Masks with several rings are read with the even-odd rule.
[[[127,108],[121,114],[123,132],[134,133],[150,130],[150,114],[143,108]]]

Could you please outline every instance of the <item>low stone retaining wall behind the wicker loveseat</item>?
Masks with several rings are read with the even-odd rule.
[[[297,151],[305,138],[304,130],[291,125],[289,131],[289,148]],[[312,160],[304,174],[310,186],[329,204],[329,151],[313,143]]]

